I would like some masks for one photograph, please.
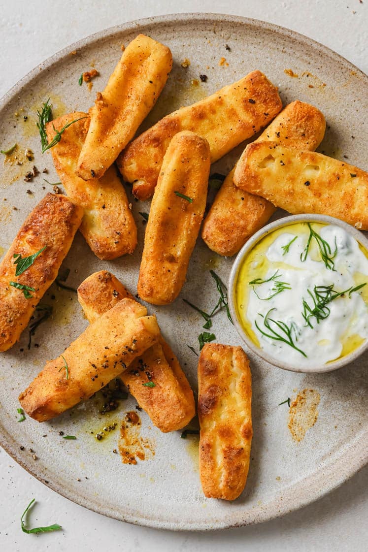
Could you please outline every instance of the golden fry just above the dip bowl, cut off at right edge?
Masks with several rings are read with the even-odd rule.
[[[276,142],[246,147],[242,178],[234,183],[289,213],[335,216],[368,230],[368,173],[322,153]]]

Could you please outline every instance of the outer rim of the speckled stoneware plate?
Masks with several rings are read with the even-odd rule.
[[[162,24],[168,24],[173,23],[176,21],[178,24],[187,24],[192,23],[193,20],[196,20],[197,22],[199,20],[203,20],[205,22],[235,22],[240,23],[244,25],[251,25],[256,27],[259,30],[267,30],[267,31],[274,31],[277,34],[281,34],[285,36],[286,39],[292,39],[292,40],[298,40],[309,47],[312,47],[314,50],[318,50],[323,56],[327,55],[335,62],[340,63],[343,65],[346,69],[355,71],[356,75],[360,76],[360,78],[364,79],[368,84],[368,76],[360,70],[359,67],[356,67],[352,62],[349,60],[346,60],[343,56],[338,54],[337,52],[330,49],[328,46],[324,46],[323,44],[320,44],[318,41],[309,38],[306,35],[303,35],[301,33],[298,33],[297,31],[294,31],[292,29],[288,29],[286,27],[283,27],[281,25],[276,25],[274,23],[269,23],[262,21],[260,19],[254,19],[254,18],[247,18],[242,17],[240,15],[231,15],[231,14],[220,14],[220,13],[201,13],[201,12],[193,12],[193,13],[172,13],[172,14],[166,14],[166,15],[156,15],[153,17],[146,17],[142,19],[135,19],[133,21],[125,22],[118,25],[113,25],[107,29],[102,29],[100,31],[97,31],[96,33],[87,35],[83,37],[80,40],[77,40],[75,43],[72,43],[68,46],[65,46],[61,50],[55,52],[55,54],[52,54],[47,59],[39,63],[36,67],[31,69],[24,77],[22,77],[17,83],[15,83],[0,99],[0,110],[3,110],[6,108],[7,104],[17,95],[22,88],[25,86],[25,84],[29,83],[34,77],[39,75],[40,71],[46,71],[50,70],[50,68],[55,64],[60,62],[64,57],[67,55],[70,55],[70,52],[73,50],[78,50],[82,47],[86,47],[88,45],[91,45],[95,43],[99,39],[105,39],[107,36],[114,36],[118,35],[119,33],[124,33],[126,31],[133,31],[135,28],[137,31],[140,31],[142,28],[145,28],[147,26],[152,26],[153,28],[156,26],[161,26]],[[154,29],[153,29],[154,33]],[[2,426],[1,426],[2,427]],[[298,496],[298,502],[292,503],[293,494],[295,491],[295,487],[297,487],[299,484],[296,482],[295,484],[291,485],[290,487],[287,487],[285,492],[283,493],[283,500],[280,503],[280,500],[278,497],[272,499],[267,503],[267,507],[264,508],[262,505],[257,506],[256,508],[253,508],[253,511],[249,515],[249,512],[246,514],[237,514],[237,521],[235,523],[229,523],[228,521],[219,521],[216,520],[214,523],[192,523],[192,522],[186,522],[183,524],[177,524],[176,522],[167,522],[167,521],[161,521],[159,519],[153,519],[150,517],[145,517],[142,514],[140,514],[140,517],[137,518],[137,516],[134,516],[133,514],[123,514],[121,513],[115,513],[110,508],[106,508],[104,510],[103,505],[98,505],[98,503],[91,504],[90,501],[88,501],[87,498],[78,495],[77,492],[73,491],[73,489],[67,489],[65,485],[60,485],[59,481],[52,481],[45,483],[45,480],[42,479],[42,470],[38,470],[38,472],[33,469],[34,463],[32,464],[29,461],[29,464],[24,461],[24,459],[20,458],[20,454],[17,449],[18,443],[15,442],[15,439],[13,436],[11,436],[5,428],[2,427],[2,436],[0,439],[0,445],[5,450],[7,454],[9,454],[10,457],[12,457],[17,464],[22,466],[23,469],[25,469],[30,475],[35,477],[35,479],[38,479],[41,483],[43,483],[46,487],[49,487],[49,489],[54,490],[59,495],[68,498],[72,502],[77,503],[80,506],[83,506],[87,509],[90,509],[91,511],[94,511],[96,513],[100,513],[104,516],[111,517],[114,519],[118,519],[119,521],[124,521],[128,523],[133,523],[136,525],[141,525],[145,527],[151,527],[156,529],[167,529],[167,530],[195,530],[195,531],[203,531],[203,530],[219,530],[219,529],[225,529],[225,528],[232,528],[232,527],[241,527],[246,526],[250,524],[255,523],[262,523],[266,521],[270,521],[271,519],[275,519],[277,517],[281,517],[287,513],[296,511],[299,508],[302,508],[304,506],[307,506],[309,503],[312,503],[319,498],[322,498],[323,496],[327,495],[327,493],[331,492],[334,489],[337,489],[340,485],[342,485],[345,481],[350,479],[353,475],[355,475],[361,468],[364,467],[365,464],[368,463],[368,445],[365,445],[365,442],[367,442],[368,439],[358,439],[357,436],[355,436],[355,439],[353,442],[350,442],[349,448],[345,450],[345,454],[341,455],[340,458],[334,459],[334,454],[331,454],[331,459],[329,463],[325,466],[325,469],[323,471],[323,474],[312,474],[307,476],[303,479],[304,485],[306,487],[309,484],[309,493],[308,496],[304,494],[304,496]],[[366,437],[368,436],[368,431],[365,431],[364,433]],[[326,484],[326,481],[328,481],[328,484]],[[319,487],[319,485],[322,485],[322,488]]]

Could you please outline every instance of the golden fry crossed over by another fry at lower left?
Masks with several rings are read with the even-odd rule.
[[[78,301],[90,323],[129,296],[123,284],[107,270],[91,274],[78,288]],[[182,429],[196,413],[191,386],[162,336],[120,378],[153,424],[164,433]],[[154,387],[145,385],[148,381],[153,381]]]

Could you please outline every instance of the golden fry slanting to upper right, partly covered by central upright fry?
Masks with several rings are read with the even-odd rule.
[[[266,126],[282,107],[277,88],[260,71],[249,73],[208,98],[166,115],[138,136],[118,157],[133,194],[150,198],[172,137],[190,130],[206,138],[211,163]]]

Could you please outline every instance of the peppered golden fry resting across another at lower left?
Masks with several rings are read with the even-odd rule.
[[[81,333],[19,396],[28,416],[44,422],[89,399],[126,370],[160,334],[155,316],[122,299]]]

